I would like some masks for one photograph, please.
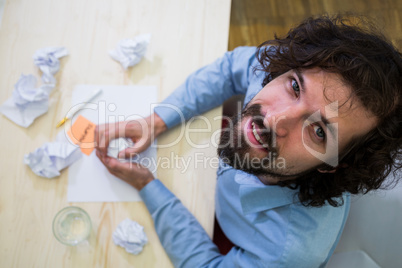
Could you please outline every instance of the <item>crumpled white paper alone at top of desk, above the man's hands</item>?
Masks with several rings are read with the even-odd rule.
[[[109,55],[127,69],[141,61],[150,40],[150,34],[139,35],[134,39],[123,39],[114,50],[109,51]]]

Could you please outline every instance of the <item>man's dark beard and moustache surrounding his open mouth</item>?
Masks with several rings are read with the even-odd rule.
[[[258,127],[261,141],[268,145],[265,149],[263,145],[255,145],[246,139],[247,133],[241,127],[244,118],[250,118],[254,125]],[[240,114],[229,119],[227,127],[222,129],[221,138],[218,146],[218,155],[222,161],[235,169],[245,171],[257,177],[269,176],[279,180],[289,180],[295,177],[308,174],[312,171],[291,173],[291,167],[286,166],[284,158],[279,157],[276,147],[275,134],[263,124],[264,116],[261,114],[261,106],[252,104],[246,107]],[[253,156],[253,148],[259,148],[266,155],[261,157]]]

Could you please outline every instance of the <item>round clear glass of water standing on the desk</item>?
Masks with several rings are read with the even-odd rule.
[[[79,207],[65,207],[53,220],[53,234],[59,242],[75,246],[85,241],[91,233],[91,219]]]

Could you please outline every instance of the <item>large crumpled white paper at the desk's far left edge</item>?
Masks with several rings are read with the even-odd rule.
[[[12,97],[1,106],[1,112],[22,127],[28,127],[35,118],[49,109],[49,94],[54,85],[45,84],[38,88],[35,86],[35,76],[21,74],[14,86]]]

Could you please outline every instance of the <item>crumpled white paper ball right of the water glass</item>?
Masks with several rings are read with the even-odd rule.
[[[148,238],[144,227],[135,221],[125,219],[114,231],[113,241],[116,245],[125,248],[128,253],[137,255],[148,243]]]

